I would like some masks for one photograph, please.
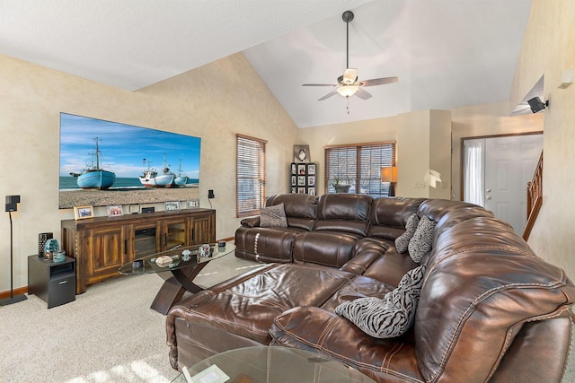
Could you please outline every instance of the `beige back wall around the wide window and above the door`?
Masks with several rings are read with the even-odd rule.
[[[509,101],[451,110],[420,110],[389,118],[315,126],[300,130],[300,144],[310,145],[312,161],[321,170],[318,193],[323,194],[323,148],[338,144],[397,142],[397,196],[460,199],[461,138],[515,135],[543,130],[543,113],[509,117]],[[451,136],[451,138],[449,138]],[[451,152],[451,156],[450,156]],[[422,166],[425,162],[426,165]],[[428,170],[442,183],[429,185]],[[415,184],[420,184],[415,187]]]

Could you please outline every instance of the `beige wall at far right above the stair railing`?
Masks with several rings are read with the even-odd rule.
[[[575,84],[558,89],[563,71],[575,68],[575,2],[534,0],[511,100],[521,100],[544,75],[543,207],[528,240],[540,257],[575,278]]]

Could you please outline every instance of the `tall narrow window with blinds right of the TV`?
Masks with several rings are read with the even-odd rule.
[[[235,135],[236,157],[236,213],[246,217],[258,213],[266,196],[267,141],[246,135]]]

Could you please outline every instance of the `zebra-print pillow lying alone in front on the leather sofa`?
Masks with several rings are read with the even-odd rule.
[[[341,303],[335,313],[348,318],[367,335],[376,338],[393,338],[403,335],[413,323],[420,300],[425,266],[420,265],[403,275],[397,288],[376,297],[358,298]]]

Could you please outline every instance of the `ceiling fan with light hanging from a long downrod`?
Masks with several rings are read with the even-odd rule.
[[[367,100],[371,98],[369,92],[363,90],[365,86],[374,85],[384,85],[386,83],[397,83],[397,77],[381,77],[374,78],[371,80],[358,81],[358,69],[349,67],[349,22],[353,20],[353,12],[346,11],[341,15],[341,19],[346,22],[346,70],[338,77],[338,82],[336,84],[332,83],[305,83],[302,86],[335,86],[337,87],[335,91],[323,96],[318,101],[323,101],[329,99],[336,93],[340,93],[343,97],[349,99],[350,96],[356,95],[361,100]]]

